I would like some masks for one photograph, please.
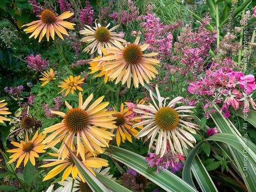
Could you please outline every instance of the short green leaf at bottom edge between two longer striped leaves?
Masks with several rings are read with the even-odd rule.
[[[121,184],[118,184],[117,182],[113,181],[113,180],[110,180],[110,178],[102,175],[102,174],[99,174],[97,172],[95,172],[97,178],[99,178],[99,180],[105,184],[105,186],[107,186],[109,189],[111,189],[111,191],[113,192],[132,192],[131,190],[121,186]]]

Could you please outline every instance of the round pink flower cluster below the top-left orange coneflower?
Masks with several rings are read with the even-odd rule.
[[[42,71],[47,69],[49,62],[47,59],[42,59],[40,55],[29,55],[25,57],[25,61],[28,63],[28,68],[31,68],[35,71]]]

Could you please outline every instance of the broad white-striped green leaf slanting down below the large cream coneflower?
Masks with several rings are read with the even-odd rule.
[[[147,173],[148,164],[145,157],[135,154],[132,151],[122,149],[116,146],[111,146],[111,153],[106,151],[106,154],[111,158],[127,165],[128,167],[137,171],[137,173],[145,176],[150,181],[157,184],[157,186],[167,191],[197,191],[187,182],[181,180],[168,170],[163,170],[161,173],[151,172]]]

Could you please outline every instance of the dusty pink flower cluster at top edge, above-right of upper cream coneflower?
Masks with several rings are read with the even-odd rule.
[[[135,6],[134,2],[132,0],[128,0],[128,10],[113,12],[113,14],[110,14],[110,18],[116,23],[126,25],[132,21],[140,21],[142,16],[140,16],[139,8]]]

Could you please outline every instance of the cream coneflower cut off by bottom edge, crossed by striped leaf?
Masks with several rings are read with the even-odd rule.
[[[93,168],[94,172],[97,172],[101,175],[104,175],[104,176],[110,178],[110,180],[113,180],[113,181],[116,180],[116,178],[113,177],[113,175],[110,175],[109,172],[108,172],[110,167],[105,168],[103,170],[101,170],[101,169],[102,168]],[[63,187],[60,187],[60,188],[56,189],[54,192],[71,191],[72,184],[73,184],[73,178],[68,177],[68,178],[65,179],[65,181],[58,182],[58,184],[60,184]],[[88,184],[86,182],[83,182],[79,177],[77,177],[75,182],[74,182],[73,189],[72,189],[72,192],[75,192],[75,191],[83,192],[83,191],[91,191],[91,189],[90,189],[90,187],[88,186]]]

